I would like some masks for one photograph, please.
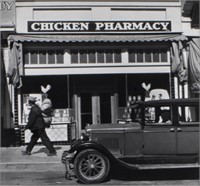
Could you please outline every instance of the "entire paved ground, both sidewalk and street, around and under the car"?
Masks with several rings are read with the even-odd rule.
[[[32,155],[22,155],[21,147],[0,148],[0,185],[81,185],[77,179],[66,180],[61,156],[69,146],[54,146],[57,156],[47,156],[45,146],[35,146]],[[198,169],[131,171],[116,169],[100,185],[199,185]]]

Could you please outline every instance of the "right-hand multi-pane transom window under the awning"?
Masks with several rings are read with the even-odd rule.
[[[129,63],[167,63],[167,49],[129,49]]]

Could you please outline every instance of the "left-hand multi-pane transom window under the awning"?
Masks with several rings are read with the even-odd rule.
[[[25,64],[64,64],[63,50],[25,50]]]

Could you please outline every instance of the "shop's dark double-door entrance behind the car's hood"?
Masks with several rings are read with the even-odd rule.
[[[81,130],[87,124],[105,124],[113,121],[113,94],[110,91],[81,92],[78,100],[80,104],[79,121]]]

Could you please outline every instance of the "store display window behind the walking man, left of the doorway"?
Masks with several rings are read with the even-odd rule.
[[[52,123],[65,123],[70,119],[74,119],[74,111],[70,106],[72,103],[67,85],[67,76],[26,76],[23,77],[22,81],[22,105],[19,107],[22,109],[19,111],[22,114],[22,124],[28,121],[30,108],[28,107],[27,97],[36,97],[37,104],[41,105],[43,99],[41,86],[46,88],[47,85],[51,86],[47,92],[47,97],[52,102]]]

